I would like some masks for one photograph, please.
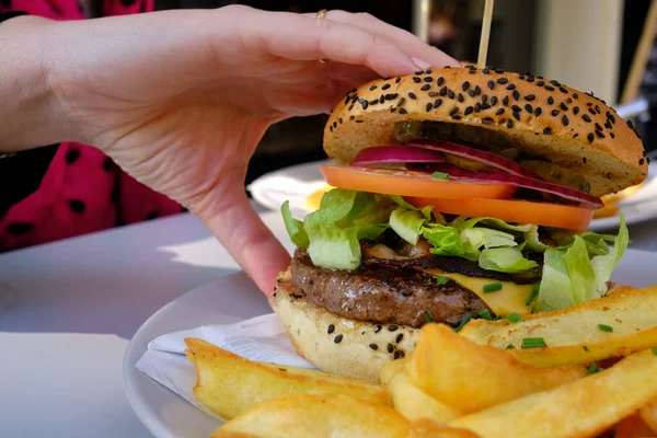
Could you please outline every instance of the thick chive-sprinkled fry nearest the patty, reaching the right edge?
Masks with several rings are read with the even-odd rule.
[[[609,296],[583,304],[525,316],[525,321],[474,320],[460,334],[476,343],[507,348],[534,367],[590,364],[623,357],[657,345],[657,286],[620,287]],[[612,332],[600,330],[600,324]],[[522,349],[526,337],[542,337],[546,347]]]

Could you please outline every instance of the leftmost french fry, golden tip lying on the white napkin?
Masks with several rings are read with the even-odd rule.
[[[254,362],[201,339],[186,338],[185,344],[197,372],[194,395],[226,419],[265,400],[293,393],[345,394],[380,405],[390,402],[382,387],[361,380]]]

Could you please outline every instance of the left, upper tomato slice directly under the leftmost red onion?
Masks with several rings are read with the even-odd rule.
[[[440,180],[424,172],[342,165],[320,166],[326,183],[348,191],[443,199],[509,198],[517,187],[484,181]]]

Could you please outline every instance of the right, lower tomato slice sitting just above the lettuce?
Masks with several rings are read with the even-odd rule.
[[[519,199],[454,200],[407,197],[406,201],[418,208],[434,206],[436,211],[450,215],[463,215],[472,218],[488,216],[507,222],[533,223],[574,231],[586,231],[593,217],[593,210],[588,208]]]

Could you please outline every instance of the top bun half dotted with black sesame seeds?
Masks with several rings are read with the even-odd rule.
[[[399,143],[394,126],[406,120],[479,127],[480,138],[482,132],[502,136],[523,155],[579,173],[595,196],[647,176],[641,139],[592,93],[540,76],[474,66],[417,71],[351,90],[328,118],[324,150],[348,164],[361,149]]]

